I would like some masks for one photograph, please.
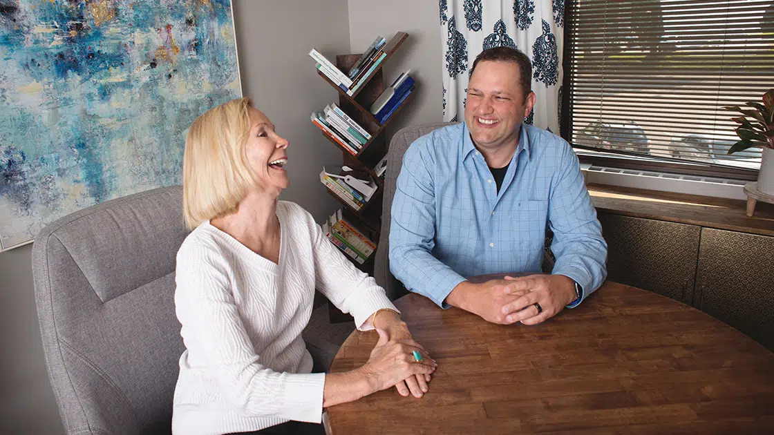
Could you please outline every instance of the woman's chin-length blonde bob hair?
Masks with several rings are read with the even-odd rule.
[[[183,216],[192,230],[234,213],[255,174],[245,158],[252,101],[237,98],[206,111],[188,128],[183,154]]]

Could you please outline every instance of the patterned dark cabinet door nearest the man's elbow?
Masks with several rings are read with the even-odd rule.
[[[701,228],[600,212],[608,279],[690,305]]]

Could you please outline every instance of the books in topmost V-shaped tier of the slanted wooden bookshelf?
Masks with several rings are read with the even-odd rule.
[[[403,35],[405,35],[403,32],[396,33],[389,43],[382,36],[377,36],[346,74],[315,49],[310,50],[309,56],[317,62],[317,70],[321,74],[328,77],[330,81],[334,82],[346,94],[352,96],[362,85],[368,82],[368,77],[382,64],[387,55],[392,50],[395,50]]]

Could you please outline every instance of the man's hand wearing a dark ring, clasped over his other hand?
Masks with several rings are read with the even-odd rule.
[[[502,307],[501,313],[506,324],[539,324],[556,316],[576,298],[575,283],[567,276],[505,276],[505,280],[510,283],[505,291],[519,294],[518,298]],[[535,303],[538,303],[542,310],[538,310]]]

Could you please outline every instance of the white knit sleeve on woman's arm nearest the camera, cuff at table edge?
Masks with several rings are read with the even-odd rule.
[[[214,249],[178,252],[175,309],[186,348],[204,360],[218,392],[239,412],[320,423],[325,374],[280,373],[261,364],[231,293],[231,273]]]

